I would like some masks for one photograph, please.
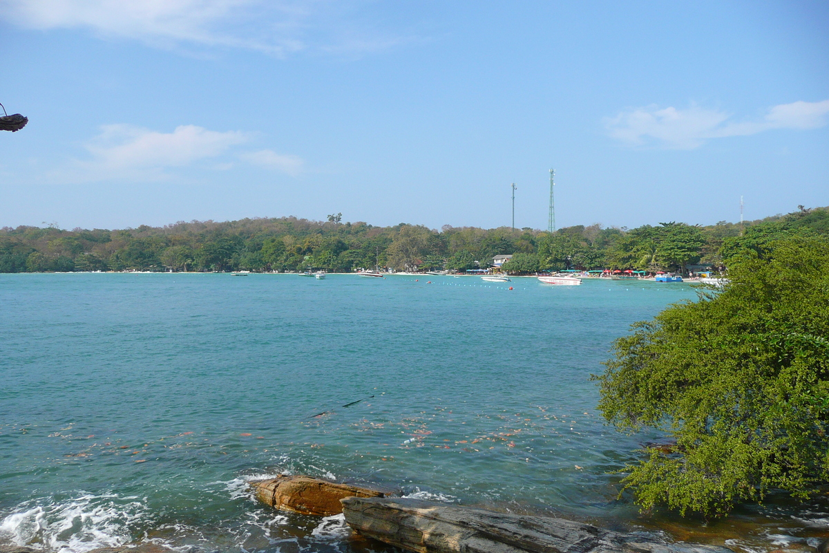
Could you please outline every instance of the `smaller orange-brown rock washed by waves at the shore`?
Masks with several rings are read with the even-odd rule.
[[[270,507],[303,515],[330,517],[342,512],[343,497],[389,497],[395,490],[373,484],[354,486],[328,482],[309,476],[280,476],[252,482],[256,498]]]

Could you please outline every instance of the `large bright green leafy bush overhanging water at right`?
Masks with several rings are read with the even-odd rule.
[[[676,439],[623,471],[645,509],[720,516],[829,480],[829,240],[749,251],[732,258],[722,291],[634,325],[594,377],[618,429]]]

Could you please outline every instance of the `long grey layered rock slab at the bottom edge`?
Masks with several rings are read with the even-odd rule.
[[[411,498],[347,497],[352,529],[417,553],[733,553],[664,544],[552,517],[531,517]]]

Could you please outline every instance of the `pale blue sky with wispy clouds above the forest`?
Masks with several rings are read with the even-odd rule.
[[[829,206],[829,2],[0,0],[0,226]]]

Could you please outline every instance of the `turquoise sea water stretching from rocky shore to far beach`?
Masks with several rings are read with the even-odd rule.
[[[690,284],[330,274],[0,275],[0,545],[396,551],[260,505],[308,474],[735,551],[807,551],[827,497],[640,513],[591,375]],[[712,369],[713,370],[713,369]]]

